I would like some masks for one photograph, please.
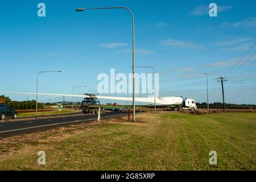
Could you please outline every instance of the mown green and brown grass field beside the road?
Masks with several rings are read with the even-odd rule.
[[[0,169],[256,170],[256,113],[137,115],[0,140]],[[37,152],[46,152],[46,165]],[[209,164],[217,151],[218,164]]]

